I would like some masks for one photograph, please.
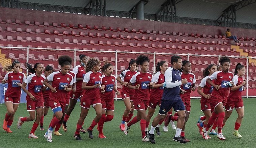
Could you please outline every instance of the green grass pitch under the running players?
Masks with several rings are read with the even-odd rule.
[[[196,122],[198,117],[203,113],[200,111],[200,100],[191,100],[191,113],[190,118],[186,124],[186,138],[191,142],[187,144],[181,144],[178,142],[174,142],[172,140],[175,131],[169,127],[169,132],[163,132],[163,128],[161,126],[160,130],[162,135],[156,136],[156,144],[151,144],[150,142],[143,143],[141,141],[141,132],[139,123],[131,126],[128,135],[124,135],[124,132],[121,132],[119,128],[119,124],[122,119],[124,104],[122,101],[115,102],[115,116],[114,119],[110,122],[106,122],[104,124],[104,135],[107,137],[106,139],[98,138],[97,128],[94,128],[94,138],[90,139],[88,137],[88,133],[81,134],[82,141],[77,141],[74,139],[73,134],[76,129],[76,122],[80,114],[79,104],[76,105],[74,111],[72,112],[67,126],[68,131],[65,133],[60,128],[59,132],[62,136],[53,136],[53,142],[47,142],[43,135],[45,131],[40,131],[39,127],[35,132],[35,135],[38,136],[38,139],[29,139],[28,135],[31,130],[32,122],[25,122],[22,125],[22,129],[18,130],[17,121],[20,116],[28,116],[28,112],[26,110],[26,104],[20,104],[17,113],[15,114],[15,118],[13,124],[11,126],[11,130],[13,133],[6,133],[1,126],[0,130],[0,148],[14,148],[14,147],[32,147],[32,148],[69,148],[69,147],[98,147],[98,148],[113,148],[113,147],[181,147],[181,148],[200,148],[200,147],[224,147],[224,148],[238,148],[238,147],[254,147],[256,145],[256,136],[255,136],[255,109],[256,109],[256,99],[244,99],[245,105],[245,117],[243,119],[242,126],[239,129],[239,133],[243,136],[242,138],[236,138],[232,135],[232,130],[234,128],[234,122],[237,118],[237,113],[234,111],[229,120],[226,122],[226,125],[223,129],[223,135],[226,140],[221,141],[216,136],[212,136],[210,140],[204,140],[201,135],[198,133],[198,128],[196,126]],[[157,115],[159,108],[156,109],[154,116]],[[0,105],[0,124],[3,124],[4,115],[6,112],[6,108],[4,104]],[[136,114],[136,112],[135,112]],[[153,117],[154,117],[153,116]],[[91,108],[88,113],[87,118],[85,119],[84,128],[87,128],[93,118],[95,117],[95,111]],[[49,114],[44,118],[44,129],[47,129],[50,120],[52,118],[52,112],[49,111]],[[153,120],[153,118],[152,118]],[[151,125],[151,124],[150,124]],[[150,126],[149,126],[150,127]],[[155,134],[156,135],[156,134]]]

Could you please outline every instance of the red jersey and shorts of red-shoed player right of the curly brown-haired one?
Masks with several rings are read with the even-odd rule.
[[[116,77],[114,75],[106,76],[102,75],[101,85],[105,85],[105,93],[100,93],[100,98],[104,100],[114,99],[114,87],[116,83]]]

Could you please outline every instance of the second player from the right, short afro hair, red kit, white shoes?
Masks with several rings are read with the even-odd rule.
[[[230,59],[228,57],[221,57],[219,59],[222,71],[214,72],[206,82],[214,86],[211,99],[211,106],[214,106],[214,111],[209,119],[208,124],[203,128],[203,138],[208,139],[208,131],[213,125],[214,121],[218,117],[218,134],[217,137],[220,140],[225,140],[226,138],[222,135],[222,124],[225,116],[224,108],[227,103],[227,95],[230,87],[233,87],[233,82],[231,81],[234,74],[229,72],[230,69]],[[215,80],[214,83],[212,80]]]

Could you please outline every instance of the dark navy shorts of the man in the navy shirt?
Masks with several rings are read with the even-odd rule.
[[[159,114],[165,115],[168,113],[168,111],[171,108],[173,108],[175,112],[181,111],[181,110],[185,111],[185,106],[181,99],[179,99],[179,100],[162,100],[160,109],[159,109]]]

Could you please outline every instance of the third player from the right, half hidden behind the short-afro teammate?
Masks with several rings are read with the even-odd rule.
[[[210,75],[212,75],[214,72],[217,71],[217,66],[214,64],[210,64],[207,66],[207,68],[203,71],[203,79],[201,80],[201,83],[199,84],[197,88],[197,92],[199,95],[201,95],[201,111],[203,111],[205,116],[200,116],[200,121],[196,125],[199,128],[200,135],[203,135],[202,127],[206,127],[210,117],[212,116],[212,112],[214,110],[214,106],[211,106],[211,94],[214,89],[213,86],[211,86],[209,83],[206,83],[206,80],[209,78]],[[214,80],[212,81],[214,83]],[[203,91],[202,91],[203,89]],[[204,120],[204,121],[203,121]],[[202,122],[203,121],[203,122]],[[211,133],[216,133],[215,130],[212,128]],[[214,134],[214,135],[217,135]],[[208,136],[210,139],[210,137]]]

